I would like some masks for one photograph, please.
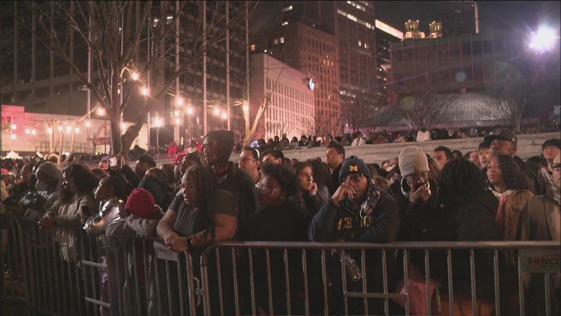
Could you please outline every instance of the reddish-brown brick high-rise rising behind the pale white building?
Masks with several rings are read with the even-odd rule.
[[[298,69],[314,83],[314,134],[332,133],[341,116],[337,38],[313,26],[292,22],[257,34],[254,53],[266,53]],[[253,47],[252,47],[253,49]],[[266,52],[265,52],[266,51]]]

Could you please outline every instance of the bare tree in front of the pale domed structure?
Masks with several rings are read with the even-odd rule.
[[[419,79],[415,92],[399,93],[399,86],[394,84],[388,86],[388,93],[398,95],[396,110],[412,127],[437,128],[448,119],[459,94],[445,80],[439,80],[439,75],[426,74]]]

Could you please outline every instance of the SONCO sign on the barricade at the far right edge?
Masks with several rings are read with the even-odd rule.
[[[559,250],[521,249],[519,254],[524,272],[559,273],[561,271],[561,251]]]

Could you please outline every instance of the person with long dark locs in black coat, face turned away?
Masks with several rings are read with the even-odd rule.
[[[424,239],[427,241],[501,241],[503,233],[495,223],[498,199],[493,195],[477,166],[466,159],[453,159],[444,165],[438,178],[436,198],[442,211],[436,214],[438,221],[426,220]],[[434,217],[433,217],[434,219]],[[476,308],[480,315],[493,312],[494,265],[493,250],[475,250]],[[499,266],[504,266],[503,258]],[[440,285],[442,311],[449,310],[447,255],[443,251],[431,251],[430,276]],[[452,250],[452,280],[454,315],[471,315],[470,250]],[[508,276],[501,270],[500,311],[508,313],[513,302]]]

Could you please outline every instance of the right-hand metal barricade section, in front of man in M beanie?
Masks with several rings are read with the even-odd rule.
[[[478,279],[478,277],[476,277],[477,271],[476,271],[476,263],[477,263],[477,267],[481,267],[482,265],[486,264],[486,263],[482,263],[479,260],[479,253],[481,251],[491,251],[493,252],[493,255],[491,256],[491,260],[492,262],[488,263],[491,265],[491,267],[493,267],[493,276],[491,276],[491,280],[494,281],[494,288],[493,288],[493,292],[494,292],[494,297],[486,297],[486,301],[491,302],[489,304],[489,308],[492,308],[492,310],[490,310],[489,312],[494,312],[496,315],[500,315],[501,311],[501,306],[504,306],[504,304],[507,304],[507,302],[505,303],[501,303],[501,295],[502,292],[500,291],[507,291],[509,290],[507,289],[501,289],[499,287],[499,283],[501,283],[501,275],[499,274],[499,272],[501,274],[503,274],[504,270],[506,267],[502,267],[499,265],[500,262],[500,256],[502,255],[502,251],[504,250],[517,250],[519,251],[518,254],[518,279],[516,281],[516,284],[518,285],[518,300],[519,300],[519,309],[518,312],[521,315],[524,315],[526,313],[525,310],[525,292],[524,292],[524,283],[525,283],[525,279],[524,279],[524,275],[526,274],[526,272],[524,272],[524,267],[523,267],[523,263],[522,260],[530,260],[528,257],[528,255],[523,254],[523,252],[525,250],[531,250],[531,251],[546,251],[544,252],[545,254],[549,254],[549,255],[544,255],[544,258],[549,258],[548,262],[552,265],[556,265],[557,269],[559,269],[560,264],[561,264],[561,259],[560,259],[560,255],[559,255],[559,243],[558,242],[549,242],[549,241],[532,241],[532,242],[395,242],[395,243],[384,243],[384,244],[374,244],[374,243],[351,243],[351,242],[346,242],[346,243],[314,243],[314,242],[222,242],[219,243],[217,245],[211,246],[209,247],[205,252],[203,252],[203,255],[201,256],[201,274],[203,277],[203,295],[204,295],[204,314],[208,315],[208,314],[225,314],[225,308],[230,308],[231,310],[229,312],[235,313],[235,314],[256,314],[258,312],[263,313],[263,309],[268,309],[268,314],[279,314],[279,313],[286,313],[288,315],[291,314],[314,314],[314,312],[318,312],[318,306],[321,305],[321,308],[323,308],[323,311],[321,311],[322,314],[328,315],[328,314],[333,314],[333,304],[331,304],[331,302],[329,302],[329,298],[331,296],[328,295],[329,292],[333,292],[334,289],[333,287],[333,275],[329,276],[328,273],[328,267],[327,267],[327,261],[329,260],[329,255],[328,255],[328,251],[332,251],[332,250],[336,250],[336,252],[338,252],[339,254],[341,254],[341,258],[345,257],[346,251],[354,251],[355,254],[358,255],[358,258],[360,258],[361,261],[361,267],[368,267],[367,265],[367,259],[369,259],[369,254],[373,254],[373,252],[380,252],[381,256],[379,258],[381,258],[380,263],[381,263],[381,274],[382,274],[382,279],[383,282],[381,282],[380,285],[370,285],[370,283],[367,284],[367,279],[370,280],[372,279],[372,276],[370,276],[370,274],[372,274],[372,270],[367,270],[367,269],[362,269],[362,278],[360,279],[361,282],[360,286],[357,286],[358,283],[354,282],[353,283],[353,287],[355,289],[359,289],[359,290],[352,290],[350,287],[348,287],[349,283],[348,282],[352,282],[349,281],[348,278],[349,276],[347,276],[346,273],[346,265],[344,260],[341,260],[341,264],[340,264],[340,269],[341,271],[339,271],[341,274],[340,276],[342,277],[342,287],[339,288],[339,291],[342,291],[342,297],[343,297],[343,311],[342,313],[348,315],[349,311],[351,310],[352,313],[360,313],[360,314],[369,314],[370,313],[376,313],[376,310],[369,310],[369,308],[371,308],[372,306],[374,306],[375,308],[381,308],[381,312],[384,313],[385,315],[389,315],[390,313],[397,313],[399,314],[399,312],[396,312],[396,310],[391,310],[390,311],[390,307],[391,305],[395,305],[394,302],[392,301],[398,301],[398,300],[402,300],[403,301],[403,313],[406,315],[410,314],[411,311],[411,306],[410,306],[410,300],[411,300],[411,294],[410,294],[410,290],[411,287],[410,286],[403,286],[402,287],[402,291],[401,292],[391,292],[388,290],[390,283],[389,282],[393,282],[392,279],[388,279],[388,269],[389,267],[387,266],[387,259],[390,256],[394,256],[394,250],[401,250],[403,251],[403,263],[402,263],[402,268],[403,268],[403,281],[404,281],[404,285],[409,285],[410,284],[410,271],[408,271],[408,266],[409,266],[409,256],[416,251],[416,254],[422,254],[424,255],[424,262],[425,262],[425,269],[424,269],[424,275],[422,277],[424,277],[425,280],[430,280],[430,256],[433,253],[433,251],[442,251],[443,254],[445,254],[445,265],[447,269],[447,273],[445,273],[445,275],[447,276],[447,284],[444,283],[441,286],[447,286],[448,287],[448,304],[447,306],[442,306],[442,314],[444,315],[453,315],[454,314],[454,310],[457,308],[456,305],[454,305],[454,294],[457,293],[461,293],[460,290],[454,290],[454,285],[458,282],[458,281],[462,281],[462,280],[453,280],[453,260],[454,260],[454,255],[459,254],[458,251],[463,251],[465,252],[465,254],[467,254],[466,258],[469,258],[469,276],[468,276],[468,283],[470,283],[470,293],[467,295],[467,300],[464,300],[462,302],[462,304],[466,303],[469,304],[471,303],[471,310],[475,311],[475,313],[473,313],[474,315],[478,314],[479,312],[481,312],[481,306],[483,302],[478,302],[477,297],[477,291],[476,291],[476,280]],[[222,255],[224,253],[228,253],[228,251],[224,252],[224,251],[219,251],[219,250],[229,250],[229,257],[227,260],[220,260],[220,253],[222,252]],[[297,261],[300,261],[301,268],[300,271],[302,272],[301,274],[298,275],[298,277],[300,277],[301,279],[295,278],[295,277],[291,277],[291,273],[292,271],[294,271],[295,269],[293,269],[293,267],[289,267],[289,263],[291,263],[291,259],[289,258],[289,252],[293,251],[293,250],[297,250],[300,251],[300,254],[298,254],[298,256],[301,258],[298,259]],[[259,254],[259,251],[264,252],[263,254]],[[277,270],[284,270],[284,285],[279,287],[278,283],[283,283],[282,277],[279,276],[275,276],[275,274],[272,274],[272,261],[271,258],[271,252],[273,251],[279,251],[280,252],[280,256],[277,256],[277,259],[280,258],[283,263],[283,267],[280,267],[279,269],[279,262],[275,262],[274,264],[277,265]],[[314,262],[312,265],[310,265],[310,252],[316,252],[316,254],[321,254],[321,259],[319,260],[319,258],[315,258]],[[292,255],[294,255],[294,252],[292,252]],[[216,260],[215,260],[215,264],[211,264],[209,262],[209,258],[210,256],[215,256]],[[259,256],[259,260],[256,261],[256,259],[254,259],[255,256]],[[531,256],[531,255],[529,255]],[[243,257],[245,260],[240,260],[240,258]],[[370,256],[370,258],[372,258]],[[553,259],[552,259],[553,258]],[[223,258],[224,259],[224,258]],[[232,263],[232,269],[221,269],[220,264],[223,264],[224,262],[227,262],[231,260]],[[532,262],[537,262],[537,261],[532,261]],[[295,261],[292,261],[292,263],[295,263]],[[243,268],[243,266],[246,265],[246,272],[245,273],[240,273],[240,268]],[[401,265],[401,264],[400,264]],[[260,273],[256,272],[256,267],[260,267]],[[264,267],[264,268],[263,268]],[[456,265],[457,267],[457,265]],[[392,267],[394,268],[394,267]],[[214,269],[216,269],[216,273],[214,273]],[[554,268],[555,269],[555,268]],[[319,273],[321,274],[321,283],[310,283],[310,271],[315,272],[315,273]],[[530,272],[531,270],[528,270],[528,272]],[[555,270],[553,270],[555,271]],[[557,273],[559,271],[557,270]],[[231,274],[231,278],[233,279],[233,286],[232,287],[225,287],[222,282],[224,282],[224,273],[229,273]],[[259,274],[259,275],[257,275]],[[505,273],[506,274],[506,273]],[[216,279],[216,284],[211,284],[211,282],[209,282],[209,278],[212,277],[213,275],[218,276],[218,278]],[[369,275],[369,277],[367,277],[367,275]],[[543,306],[545,306],[545,311],[546,314],[550,315],[551,314],[551,307],[550,307],[550,282],[549,282],[549,277],[551,275],[551,272],[545,273],[545,285],[544,287],[542,287],[542,289],[544,289],[545,292],[545,301],[542,299],[540,302],[533,302],[533,304],[543,304]],[[273,277],[272,277],[273,276]],[[241,278],[245,277],[245,280],[242,280]],[[540,276],[541,278],[544,278],[543,275]],[[245,281],[245,282],[243,282]],[[279,282],[280,281],[280,282]],[[277,284],[275,284],[275,282],[277,282]],[[301,301],[303,302],[303,304],[301,304],[301,306],[298,306],[297,308],[295,307],[295,300],[294,298],[296,297],[298,299],[298,296],[295,295],[291,295],[291,290],[293,290],[293,288],[295,287],[291,287],[291,284],[293,282],[296,283],[300,283],[302,285],[302,289],[303,292],[299,295]],[[244,284],[245,283],[245,284]],[[249,287],[247,286],[247,283],[249,283]],[[257,283],[261,283],[261,285],[257,285]],[[434,305],[432,303],[434,297],[432,297],[430,295],[430,293],[434,293],[434,291],[431,291],[431,282],[424,282],[426,284],[426,297],[424,297],[424,299],[426,299],[426,314],[427,315],[431,315],[433,312],[433,310],[431,310],[431,305]],[[317,294],[318,292],[321,292],[321,296],[320,299],[317,299],[317,295],[316,295],[316,301],[312,301],[310,299],[310,284],[311,288],[312,288],[312,292],[314,292],[314,294]],[[245,289],[242,290],[240,287],[245,286]],[[321,289],[321,286],[323,286],[323,289]],[[378,287],[381,288],[380,292],[371,292],[371,291],[367,291],[367,286],[369,287]],[[392,286],[393,287],[393,286]],[[273,288],[276,288],[277,291],[273,290]],[[278,291],[279,288],[282,288],[283,291]],[[261,291],[260,291],[260,290]],[[225,304],[225,299],[224,299],[224,295],[228,295],[228,293],[233,292],[233,303],[234,306],[228,306],[228,304]],[[260,296],[259,299],[256,299],[256,295]],[[445,295],[445,294],[443,294]],[[278,299],[278,296],[281,297],[281,299]],[[460,296],[459,294],[457,296]],[[216,297],[219,298],[219,303],[215,304],[213,303],[213,299],[215,299]],[[249,304],[244,304],[247,303],[247,299],[251,299],[251,306],[249,306]],[[357,309],[357,303],[358,300],[362,299],[362,306]],[[376,300],[383,300],[383,303],[380,303],[378,306],[376,306],[376,304],[370,304],[369,300],[371,299],[376,299]],[[244,301],[245,300],[245,301]],[[291,301],[292,300],[292,301]],[[351,309],[351,306],[349,305],[349,301],[353,300],[353,309]],[[493,302],[494,301],[494,302]],[[280,302],[280,304],[279,304]],[[417,303],[419,303],[419,301],[416,301]],[[338,302],[340,303],[340,302]],[[276,304],[276,305],[275,305]],[[311,304],[315,305],[315,310],[311,310]],[[217,306],[218,305],[218,306]],[[245,306],[244,306],[245,305]],[[465,305],[465,304],[464,304]],[[512,306],[509,306],[512,307]],[[235,310],[233,310],[235,308]],[[286,308],[286,309],[285,309]],[[281,310],[281,312],[278,312],[278,310]],[[358,312],[357,312],[358,311]],[[512,310],[511,310],[512,312]],[[481,313],[485,313],[485,312],[481,312]],[[505,312],[507,313],[507,312]],[[229,313],[226,313],[229,314]],[[337,313],[335,313],[337,314]]]

